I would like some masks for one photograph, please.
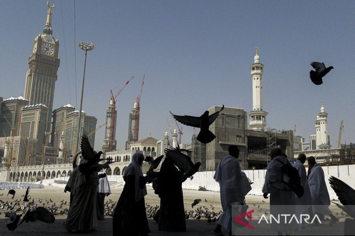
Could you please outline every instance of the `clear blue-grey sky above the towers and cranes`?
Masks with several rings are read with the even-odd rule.
[[[24,91],[34,38],[42,31],[46,1],[0,2],[0,96]],[[259,47],[263,108],[268,126],[315,133],[321,100],[329,114],[331,144],[340,121],[342,143],[354,142],[354,1],[55,1],[53,36],[61,64],[54,107],[79,103],[84,52],[88,53],[83,110],[105,122],[109,90],[135,79],[117,100],[118,148],[127,140],[128,115],[146,75],[141,101],[140,138],[161,139],[175,114],[200,115],[215,104],[252,109],[250,64]],[[63,31],[64,28],[64,31]],[[65,39],[65,44],[64,44]],[[75,41],[76,40],[76,41]],[[65,47],[64,47],[65,46]],[[66,50],[65,50],[66,49]],[[75,57],[77,101],[75,96]],[[335,69],[321,86],[309,79],[310,62]],[[68,86],[69,83],[69,86]],[[192,128],[184,126],[183,142]],[[100,149],[104,128],[95,137]]]

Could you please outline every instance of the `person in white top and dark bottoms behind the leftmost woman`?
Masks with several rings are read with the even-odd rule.
[[[103,174],[105,177],[99,179],[99,186],[97,188],[97,196],[96,196],[96,214],[98,220],[104,220],[104,210],[105,210],[105,197],[111,194],[109,181],[107,179],[105,170],[102,169],[98,174]],[[102,176],[103,176],[102,175]]]

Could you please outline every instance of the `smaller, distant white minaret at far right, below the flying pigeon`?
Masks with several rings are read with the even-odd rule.
[[[330,140],[327,131],[328,113],[324,111],[323,101],[321,112],[317,114],[317,120],[315,121],[316,135],[317,135],[317,149],[330,149]]]

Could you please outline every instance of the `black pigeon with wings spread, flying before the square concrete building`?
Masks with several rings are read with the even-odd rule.
[[[209,143],[212,142],[216,136],[211,131],[209,131],[208,128],[213,123],[213,121],[217,119],[219,112],[223,109],[224,105],[219,111],[213,113],[212,115],[209,115],[209,111],[205,111],[200,117],[187,115],[178,116],[171,113],[171,111],[170,114],[174,117],[175,120],[184,125],[201,128],[200,133],[198,133],[197,140],[201,143]]]

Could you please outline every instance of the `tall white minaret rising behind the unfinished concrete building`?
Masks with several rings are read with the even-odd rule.
[[[250,66],[253,85],[253,110],[248,113],[251,129],[263,131],[266,126],[267,112],[263,111],[262,76],[264,65],[259,61],[258,47],[255,47],[254,63]]]

